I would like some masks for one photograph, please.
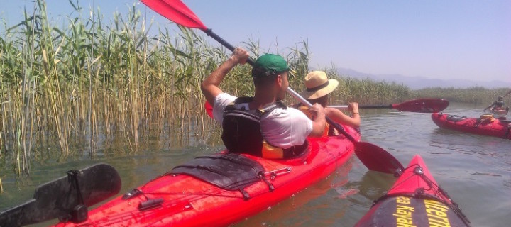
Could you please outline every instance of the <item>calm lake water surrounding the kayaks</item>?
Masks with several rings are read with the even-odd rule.
[[[451,104],[444,113],[475,117],[483,114],[480,109]],[[421,155],[473,226],[510,225],[511,140],[440,129],[430,114],[363,111],[361,116],[363,141],[387,150],[405,166],[414,155]],[[109,163],[121,175],[123,194],[175,165],[221,149],[200,144],[169,149],[155,144],[137,153],[100,152],[94,160],[85,154],[65,163],[41,160],[32,163],[30,177],[16,177],[8,168],[0,173],[5,191],[0,194],[0,210],[31,199],[38,184],[62,177],[71,168]],[[392,175],[368,171],[353,157],[322,182],[233,226],[353,226],[394,181]],[[55,221],[37,226],[50,223]]]

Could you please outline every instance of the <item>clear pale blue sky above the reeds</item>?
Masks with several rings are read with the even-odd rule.
[[[1,17],[9,25],[21,20],[24,6],[33,9],[31,1],[0,1]],[[133,2],[79,4],[84,9],[99,6],[109,18],[114,11],[128,11]],[[370,74],[511,82],[508,0],[183,2],[233,45],[259,38],[265,52],[283,53],[307,40],[312,67],[334,64]],[[156,23],[168,23],[143,4],[138,9]],[[48,0],[48,13],[56,23],[65,21],[70,11],[66,0]]]

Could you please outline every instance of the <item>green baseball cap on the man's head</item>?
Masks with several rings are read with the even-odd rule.
[[[252,77],[268,77],[289,70],[286,60],[280,55],[265,54],[255,60]]]

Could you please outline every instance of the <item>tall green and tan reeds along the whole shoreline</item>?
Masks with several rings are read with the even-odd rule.
[[[83,11],[77,1],[69,3],[75,11],[64,26],[54,26],[45,1],[36,0],[21,23],[4,21],[0,30],[0,179],[4,170],[29,175],[31,162],[93,159],[97,150],[122,155],[150,141],[158,141],[158,148],[218,143],[218,126],[205,113],[199,87],[229,57],[229,50],[210,45],[207,37],[187,28],[154,28],[136,4],[129,13],[114,13],[103,21],[99,8]],[[81,18],[82,13],[90,17]],[[265,52],[258,40],[243,45],[252,57]],[[278,54],[295,70],[290,87],[304,89],[307,41]],[[508,90],[410,90],[395,82],[345,77],[334,65],[318,70],[340,78],[334,104],[441,98],[488,105]],[[236,67],[222,89],[253,94],[250,72],[249,65]],[[289,96],[286,101],[296,102]]]

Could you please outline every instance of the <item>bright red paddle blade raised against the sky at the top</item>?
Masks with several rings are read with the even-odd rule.
[[[153,11],[160,13],[161,16],[174,21],[175,23],[187,28],[199,28],[206,31],[207,27],[199,18],[180,0],[141,0],[143,4],[149,6]]]

